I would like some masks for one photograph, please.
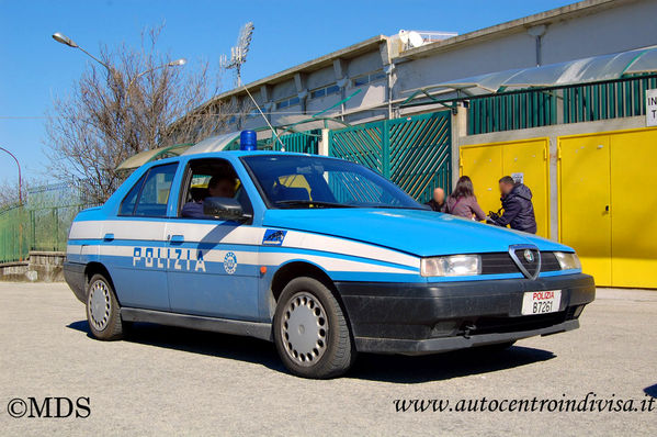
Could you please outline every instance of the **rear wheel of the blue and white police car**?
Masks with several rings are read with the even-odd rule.
[[[124,329],[121,307],[112,283],[103,274],[94,274],[87,285],[87,321],[99,340],[118,340]]]

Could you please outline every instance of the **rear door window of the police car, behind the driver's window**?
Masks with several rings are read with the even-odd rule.
[[[178,164],[151,168],[127,193],[121,203],[120,215],[166,216],[177,168]]]

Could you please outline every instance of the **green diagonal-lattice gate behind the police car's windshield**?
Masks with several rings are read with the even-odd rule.
[[[329,134],[329,155],[362,164],[420,202],[451,191],[450,111],[361,124]]]

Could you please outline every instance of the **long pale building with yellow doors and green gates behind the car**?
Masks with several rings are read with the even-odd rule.
[[[468,175],[497,211],[497,181],[513,175],[539,233],[574,246],[599,284],[657,288],[655,16],[650,0],[587,0],[415,46],[380,35],[246,87],[272,125],[322,128],[310,152],[370,165],[418,200]],[[217,102],[250,98],[205,107]],[[233,127],[265,126],[251,111]]]

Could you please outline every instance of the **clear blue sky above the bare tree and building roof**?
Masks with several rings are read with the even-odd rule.
[[[558,8],[564,0],[0,0],[0,147],[16,155],[23,178],[48,182],[45,113],[91,60],[56,43],[55,32],[93,53],[101,44],[137,45],[145,27],[166,27],[159,49],[218,63],[239,29],[256,30],[242,81],[260,79],[375,35],[400,29],[460,34]],[[226,80],[230,82],[230,80]],[[228,83],[229,85],[229,83]],[[0,150],[0,182],[16,181]]]

